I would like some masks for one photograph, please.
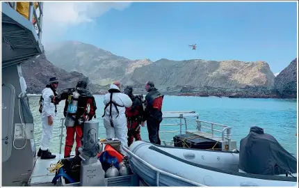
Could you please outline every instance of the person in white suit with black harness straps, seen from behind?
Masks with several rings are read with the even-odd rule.
[[[115,84],[111,84],[110,88],[117,89],[120,91],[120,88],[118,86],[115,86]],[[110,95],[111,93],[107,93],[104,96],[104,104],[108,104],[110,102]],[[112,115],[112,122],[113,126],[110,124],[110,106],[108,106],[105,110],[105,116],[104,118],[104,127],[106,129],[106,139],[113,139],[116,138],[120,140],[123,146],[128,146],[128,140],[127,140],[127,118],[125,114],[125,107],[129,108],[132,105],[132,101],[130,97],[124,93],[113,93],[112,94],[112,101],[116,104],[124,107],[118,107],[118,111],[115,109],[114,104],[112,105],[111,109],[111,115]]]

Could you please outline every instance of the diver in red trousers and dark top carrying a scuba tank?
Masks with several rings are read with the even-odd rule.
[[[86,107],[83,109],[82,116],[83,120],[91,120],[92,117],[95,116],[95,111],[97,106],[95,104],[95,98],[92,96],[90,91],[86,90],[87,82],[86,81],[78,81],[76,85],[76,89],[80,95],[84,95],[87,98]],[[80,102],[80,101],[79,101]],[[67,116],[67,107],[68,102],[65,100],[65,109],[63,111],[63,115]],[[88,111],[89,107],[89,111]],[[72,147],[74,145],[74,136],[76,134],[76,155],[79,155],[78,149],[81,147],[81,138],[83,137],[83,126],[84,123],[79,125],[78,121],[75,121],[74,127],[67,127],[67,136],[65,138],[65,152],[64,157],[70,157],[70,153],[72,152]]]

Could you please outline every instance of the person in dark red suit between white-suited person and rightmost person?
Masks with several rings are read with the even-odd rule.
[[[142,95],[133,95],[133,88],[131,86],[127,86],[127,88],[124,89],[124,94],[127,94],[133,102],[131,107],[126,108],[128,146],[131,146],[134,138],[135,141],[142,140],[140,136],[140,123],[143,120],[143,101]]]

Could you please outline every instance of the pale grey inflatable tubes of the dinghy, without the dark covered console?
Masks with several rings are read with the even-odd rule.
[[[206,150],[194,150],[193,154],[195,158],[193,162],[184,159],[184,149],[181,148],[165,148],[159,147],[152,143],[147,143],[145,141],[136,141],[130,147],[129,150],[134,153],[140,159],[143,159],[148,164],[160,169],[162,171],[178,175],[181,178],[191,180],[193,182],[200,183],[202,185],[211,187],[293,187],[297,185],[297,178],[284,177],[277,175],[256,175],[249,173],[241,173],[232,170],[215,168],[217,166],[215,159],[216,155],[223,157],[227,155],[225,152],[210,152]],[[170,151],[172,150],[172,151]],[[172,154],[170,154],[172,152]],[[181,156],[179,157],[179,152]],[[207,152],[207,154],[203,154]],[[229,152],[228,152],[229,153]],[[178,156],[175,156],[178,155]],[[209,162],[203,162],[197,159],[197,155],[204,155],[211,159]],[[229,156],[229,155],[227,155]],[[234,159],[225,156],[226,159],[225,166],[229,166],[229,162],[232,162],[234,166]],[[186,157],[185,157],[186,158]],[[205,158],[205,157],[204,157]],[[214,158],[214,159],[213,159]],[[156,186],[156,171],[148,168],[142,164],[138,159],[130,157],[131,169],[137,173],[140,178],[145,180],[149,185]],[[197,160],[196,160],[197,159]],[[189,159],[190,160],[190,159]],[[212,164],[215,161],[215,164]],[[196,162],[196,163],[195,163]],[[209,166],[208,166],[209,165]],[[221,165],[221,163],[220,163]],[[228,167],[230,168],[230,167]],[[166,187],[184,187],[191,186],[186,184],[186,182],[179,181],[175,178],[171,178],[167,175],[160,175],[159,186]]]

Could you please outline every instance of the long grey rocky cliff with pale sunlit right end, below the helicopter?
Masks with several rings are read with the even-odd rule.
[[[154,81],[156,86],[192,86],[195,88],[273,88],[275,76],[264,61],[171,61],[161,59],[134,70],[131,80],[136,84]]]

